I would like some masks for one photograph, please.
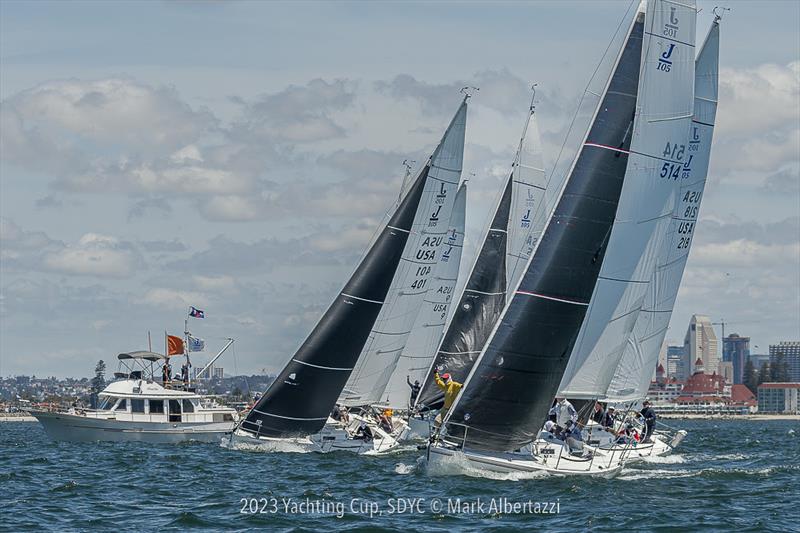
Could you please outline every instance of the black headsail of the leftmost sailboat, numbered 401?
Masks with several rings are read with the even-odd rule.
[[[465,119],[466,100],[457,116]],[[440,183],[429,179],[437,174],[435,156],[442,145],[450,145],[449,135],[460,138],[463,149],[464,127],[464,121],[457,127],[451,123],[434,157],[308,338],[240,423],[241,430],[281,438],[310,435],[325,425],[384,306],[418,213],[430,216],[433,197],[440,190]]]

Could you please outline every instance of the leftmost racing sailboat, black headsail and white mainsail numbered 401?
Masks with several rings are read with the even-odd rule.
[[[441,219],[449,220],[460,178],[468,98],[342,291],[228,445],[359,453],[393,445],[380,430],[354,439],[363,418],[353,416],[350,425],[329,415],[364,352],[386,349],[388,328],[405,315],[413,315],[412,323],[416,317],[441,245],[434,234],[446,231]]]

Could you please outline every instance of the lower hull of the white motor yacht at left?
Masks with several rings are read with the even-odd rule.
[[[67,413],[31,411],[50,438],[60,441],[218,442],[233,422],[126,422]]]

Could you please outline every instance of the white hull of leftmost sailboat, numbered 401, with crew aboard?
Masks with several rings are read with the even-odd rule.
[[[350,415],[350,423],[347,427],[344,424],[328,419],[328,423],[319,433],[308,437],[256,437],[249,431],[237,429],[233,431],[228,439],[227,446],[232,448],[251,448],[266,452],[350,452],[361,455],[375,455],[386,453],[396,448],[399,439],[386,433],[371,421],[368,422],[372,434],[372,440],[353,438],[361,417]],[[397,428],[393,434],[398,437],[407,431],[407,426]]]

